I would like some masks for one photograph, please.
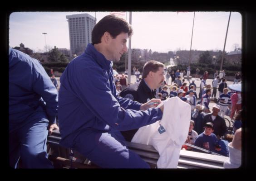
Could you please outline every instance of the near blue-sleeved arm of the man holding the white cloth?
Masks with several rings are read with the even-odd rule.
[[[77,66],[77,71],[73,72],[69,79],[76,95],[96,119],[119,131],[137,129],[162,119],[160,108],[150,108],[146,111],[124,110],[111,94],[107,86],[108,79],[99,67]]]

